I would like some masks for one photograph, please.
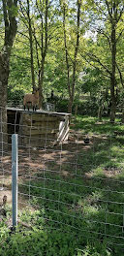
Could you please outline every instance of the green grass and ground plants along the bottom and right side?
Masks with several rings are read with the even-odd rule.
[[[46,167],[55,173],[38,173],[30,180],[30,204],[35,210],[19,211],[19,219],[29,228],[19,224],[11,233],[3,220],[0,256],[124,255],[122,131],[118,120],[110,124],[108,118],[98,123],[95,117],[77,117],[74,134],[79,132],[80,140],[88,134],[92,144],[78,144],[76,158],[69,154],[70,146],[61,169],[54,159]],[[66,145],[63,149],[67,151]],[[62,176],[65,171],[67,176]],[[19,191],[28,194],[28,185],[23,180]],[[8,210],[8,219],[10,214]]]

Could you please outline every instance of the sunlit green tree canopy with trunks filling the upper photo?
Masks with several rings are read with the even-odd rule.
[[[3,0],[0,35],[11,55],[8,99],[39,87],[40,108],[53,90],[72,112],[84,95],[108,98],[114,121],[123,106],[124,1]]]

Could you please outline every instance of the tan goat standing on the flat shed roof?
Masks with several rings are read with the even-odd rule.
[[[32,106],[33,111],[36,111],[36,107],[39,105],[39,89],[36,89],[33,94],[28,93],[24,95],[23,98],[23,106],[24,110],[27,109],[29,111],[29,104]]]

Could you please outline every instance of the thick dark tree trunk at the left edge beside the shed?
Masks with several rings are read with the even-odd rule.
[[[4,45],[0,51],[0,107],[2,107],[1,120],[4,124],[6,124],[7,88],[9,79],[10,57],[17,30],[17,0],[2,0],[2,6],[4,22]],[[6,134],[7,126],[4,125],[3,129],[4,133]]]

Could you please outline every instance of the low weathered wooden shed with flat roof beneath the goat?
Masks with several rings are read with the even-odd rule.
[[[7,108],[8,134],[19,135],[19,144],[43,146],[49,142],[63,142],[69,137],[70,113],[24,111]]]

